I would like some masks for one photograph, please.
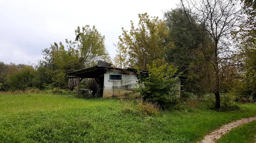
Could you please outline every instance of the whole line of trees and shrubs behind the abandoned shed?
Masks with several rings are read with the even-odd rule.
[[[78,27],[74,41],[44,49],[35,67],[1,62],[0,90],[65,88],[66,73],[104,60],[120,68],[174,65],[187,77],[182,90],[214,93],[215,108],[220,93],[256,100],[255,9],[255,0],[180,0],[163,19],[139,14],[138,25],[131,21],[129,30],[122,28],[113,61],[95,26]]]

